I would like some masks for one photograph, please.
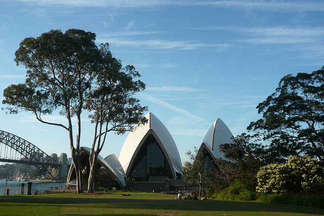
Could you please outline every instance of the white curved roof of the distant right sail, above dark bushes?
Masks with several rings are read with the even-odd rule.
[[[219,152],[219,146],[225,143],[233,143],[232,137],[232,132],[228,129],[226,124],[218,118],[209,128],[200,144],[198,152],[206,148],[214,158],[224,158],[224,155]]]

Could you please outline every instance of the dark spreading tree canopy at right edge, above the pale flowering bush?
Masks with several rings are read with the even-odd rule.
[[[271,148],[288,159],[324,156],[324,66],[312,73],[288,74],[276,91],[257,106],[263,117],[249,131],[270,140]]]

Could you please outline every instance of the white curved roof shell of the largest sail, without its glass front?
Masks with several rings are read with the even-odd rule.
[[[169,164],[172,165],[173,175],[174,178],[176,178],[176,172],[182,174],[183,169],[178,148],[170,132],[167,127],[151,112],[147,113],[145,117],[148,119],[148,122],[144,125],[139,125],[134,132],[130,132],[120,151],[119,162],[121,166],[123,166],[125,173],[128,175],[128,167],[133,163],[141,145],[151,134],[160,144]]]

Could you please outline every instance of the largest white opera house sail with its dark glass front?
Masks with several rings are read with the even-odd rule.
[[[165,181],[182,175],[178,148],[166,126],[151,112],[148,122],[127,137],[119,162],[129,181]]]

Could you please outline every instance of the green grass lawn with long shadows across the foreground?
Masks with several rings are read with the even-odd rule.
[[[324,209],[258,202],[175,200],[176,195],[130,193],[0,196],[0,215],[324,215]]]

